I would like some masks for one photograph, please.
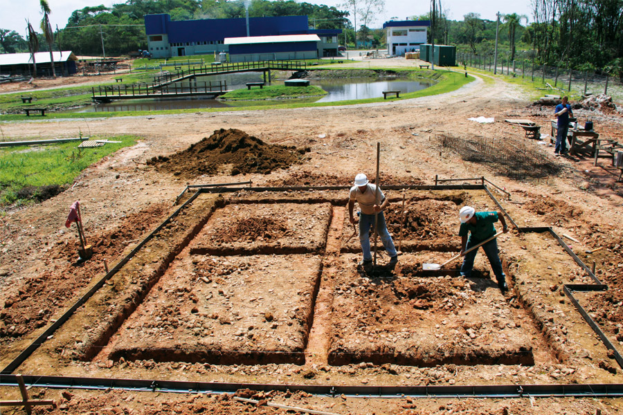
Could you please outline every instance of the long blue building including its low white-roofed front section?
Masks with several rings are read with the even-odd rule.
[[[310,29],[307,16],[172,21],[170,15],[146,15],[145,33],[152,57],[226,52],[232,60],[237,55],[234,62],[249,62],[269,55],[283,56],[272,59],[336,56],[342,30]],[[305,57],[285,57],[293,55]]]

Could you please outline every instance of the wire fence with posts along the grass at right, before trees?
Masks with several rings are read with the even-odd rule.
[[[530,59],[515,59],[498,56],[497,67],[493,55],[459,53],[458,61],[464,66],[481,71],[499,73],[510,77],[530,80],[537,89],[548,89],[556,95],[611,95],[613,101],[623,103],[623,82],[618,77],[575,71],[560,66],[534,64]]]

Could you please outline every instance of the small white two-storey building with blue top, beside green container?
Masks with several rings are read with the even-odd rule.
[[[406,52],[419,52],[419,45],[425,44],[430,20],[386,21],[383,29],[387,36],[388,55],[404,55]]]

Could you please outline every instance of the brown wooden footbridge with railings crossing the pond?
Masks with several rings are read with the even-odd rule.
[[[214,62],[205,66],[193,66],[174,73],[165,73],[154,78],[153,84],[108,85],[92,88],[93,101],[136,100],[145,98],[184,98],[192,96],[218,96],[229,92],[225,81],[193,82],[188,86],[177,84],[200,76],[225,75],[229,73],[264,73],[264,83],[271,82],[271,71],[305,71],[307,63],[300,61],[262,61],[262,62]]]

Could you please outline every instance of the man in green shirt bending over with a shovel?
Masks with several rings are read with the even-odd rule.
[[[459,212],[459,219],[461,221],[461,228],[459,230],[459,236],[461,237],[461,255],[472,246],[476,246],[478,243],[486,241],[494,236],[496,234],[494,223],[498,220],[502,223],[503,232],[508,232],[508,226],[506,225],[502,212],[476,212],[471,206],[463,206]],[[500,291],[507,291],[506,275],[504,274],[502,262],[498,255],[498,240],[496,238],[491,239],[491,241],[482,245],[482,250],[485,251],[485,255],[487,255],[489,259],[489,264],[491,264],[491,268],[498,280]],[[467,252],[465,255],[463,265],[461,266],[462,276],[469,277],[471,274],[473,260],[476,258],[477,252],[478,249],[475,249],[471,252]]]

